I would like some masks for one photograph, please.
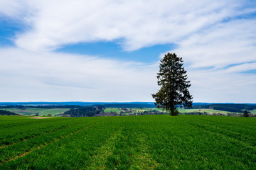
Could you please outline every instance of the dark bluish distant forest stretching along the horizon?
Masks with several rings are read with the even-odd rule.
[[[58,103],[58,102],[57,102]],[[58,105],[56,102],[33,102],[33,103],[0,103],[0,109],[3,108],[70,108],[63,115],[70,115],[72,117],[80,116],[100,116],[103,114],[113,115],[114,113],[103,113],[104,108],[156,108],[153,102],[131,102],[131,103],[84,103],[84,102],[63,102]],[[85,105],[82,105],[84,103]],[[75,105],[77,104],[77,105]],[[230,113],[243,113],[244,110],[250,111],[256,109],[256,104],[234,104],[234,103],[193,103],[196,109],[214,109],[218,111],[227,111]],[[186,108],[190,109],[190,108]],[[157,113],[159,114],[159,113]],[[17,115],[9,111],[0,110],[0,115]]]

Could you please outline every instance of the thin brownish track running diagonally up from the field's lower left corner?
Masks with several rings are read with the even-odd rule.
[[[82,130],[86,130],[86,129],[91,128],[92,126],[97,125],[97,124],[98,124],[98,123],[95,123],[95,124],[89,125],[89,126],[87,126],[87,127],[85,127],[85,128],[81,128],[80,130],[76,130],[75,132],[70,132],[68,135],[64,135],[64,136],[62,136],[62,137],[59,137],[59,138],[56,139],[56,140],[52,140],[52,141],[50,141],[50,142],[47,142],[46,144],[40,145],[40,146],[38,146],[38,147],[35,147],[35,148],[31,149],[31,150],[28,151],[28,152],[24,152],[23,154],[19,154],[18,156],[13,157],[13,158],[11,158],[11,159],[7,159],[7,160],[4,160],[4,161],[1,161],[1,162],[0,162],[0,165],[1,165],[1,164],[4,164],[4,163],[7,163],[7,162],[14,161],[14,160],[16,160],[16,159],[18,159],[18,158],[20,158],[20,157],[25,157],[27,154],[30,154],[31,152],[34,152],[34,151],[36,151],[36,150],[38,150],[38,149],[41,149],[41,148],[43,148],[43,147],[46,147],[46,146],[48,146],[48,145],[50,145],[50,144],[53,144],[53,143],[58,142],[58,141],[60,141],[60,140],[63,140],[63,139],[65,139],[66,137],[70,137],[71,135],[75,135],[75,134],[77,134],[77,133],[79,133],[79,132],[82,132]]]

